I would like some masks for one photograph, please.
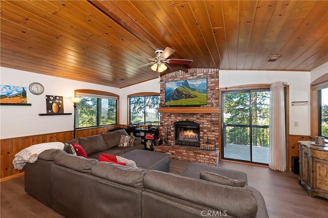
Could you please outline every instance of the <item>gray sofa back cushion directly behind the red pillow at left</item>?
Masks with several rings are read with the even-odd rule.
[[[78,142],[86,150],[87,155],[107,150],[106,143],[101,135],[81,137],[78,138]]]

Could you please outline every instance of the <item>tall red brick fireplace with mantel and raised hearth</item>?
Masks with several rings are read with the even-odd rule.
[[[200,107],[165,107],[165,82],[207,78],[207,105]],[[175,71],[160,77],[160,134],[165,145],[154,148],[155,151],[166,152],[175,159],[216,165],[219,150],[219,75],[216,68],[191,68],[188,72]],[[190,124],[196,124],[196,136],[180,137],[176,124],[182,124],[184,129],[190,129]],[[188,133],[186,133],[188,134]],[[189,137],[189,138],[188,138]],[[197,140],[196,140],[197,137]],[[181,138],[184,142],[181,142]],[[192,143],[197,142],[197,143]],[[216,151],[199,149],[201,143],[216,145]],[[169,151],[176,150],[175,152]],[[185,150],[185,151],[183,151]],[[180,152],[179,155],[173,153]]]

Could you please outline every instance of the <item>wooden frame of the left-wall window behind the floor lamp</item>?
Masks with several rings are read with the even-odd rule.
[[[98,90],[93,90],[93,89],[76,89],[74,90],[74,96],[79,97],[79,94],[85,94],[85,95],[90,95],[90,98],[97,98],[97,109],[96,109],[96,126],[90,126],[90,127],[77,127],[76,129],[88,129],[88,128],[95,128],[95,127],[106,127],[106,126],[112,126],[112,125],[117,125],[119,124],[119,95],[112,93],[112,92],[107,92],[107,91],[98,91]],[[85,96],[87,97],[87,96]],[[101,98],[103,97],[103,98]],[[101,99],[116,99],[116,114],[115,114],[115,124],[105,124],[105,125],[100,125],[100,117],[99,117],[99,105],[101,105]],[[77,104],[78,107],[78,104]]]

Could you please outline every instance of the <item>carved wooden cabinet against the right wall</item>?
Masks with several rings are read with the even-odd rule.
[[[328,199],[328,147],[299,141],[299,184],[311,197]]]

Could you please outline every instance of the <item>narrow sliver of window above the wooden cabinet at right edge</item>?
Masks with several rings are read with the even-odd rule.
[[[328,139],[328,88],[318,90],[319,135]]]

